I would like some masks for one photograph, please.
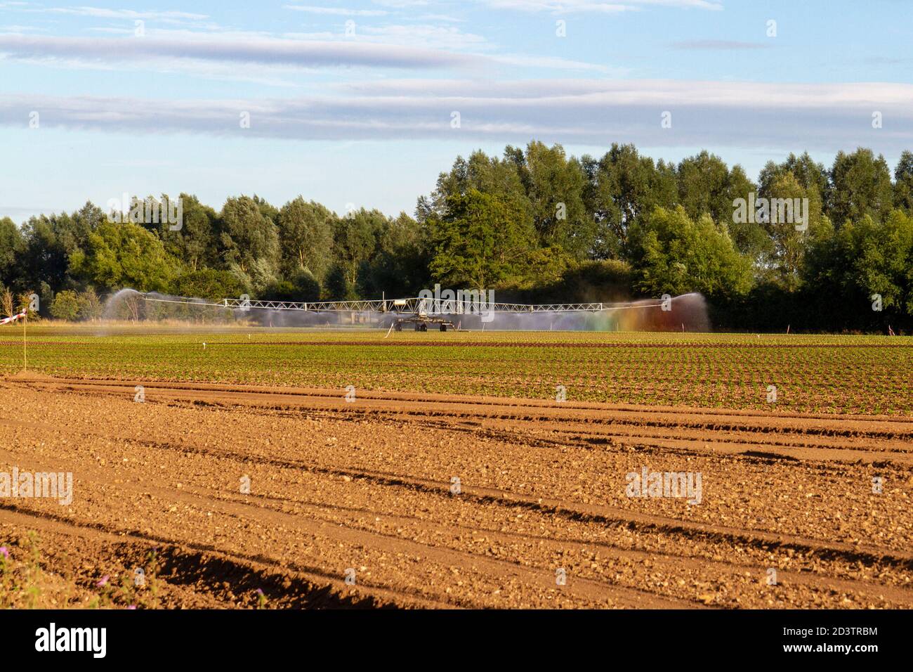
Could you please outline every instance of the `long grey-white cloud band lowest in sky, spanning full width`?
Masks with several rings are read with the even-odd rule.
[[[913,140],[913,85],[672,80],[391,80],[257,101],[7,96],[0,123],[116,133],[205,133],[299,140],[537,137],[566,144],[804,147]],[[896,131],[871,128],[871,111]],[[461,127],[450,126],[460,112]],[[672,112],[672,128],[661,113]],[[240,112],[251,125],[241,129]],[[904,130],[909,129],[909,130]]]

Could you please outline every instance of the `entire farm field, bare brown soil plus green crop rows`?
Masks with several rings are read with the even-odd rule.
[[[913,606],[910,339],[28,329],[7,604]]]

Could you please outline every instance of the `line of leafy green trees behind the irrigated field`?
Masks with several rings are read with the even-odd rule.
[[[229,197],[220,210],[179,197],[179,228],[111,221],[92,203],[0,219],[0,295],[37,293],[43,315],[80,319],[123,287],[310,302],[441,283],[530,302],[699,292],[714,324],[734,329],[913,325],[911,152],[893,172],[866,148],[830,167],[791,154],[755,182],[706,151],[675,164],[633,144],[577,158],[530,142],[457,157],[415,217],[337,214],[300,196],[281,208]],[[734,216],[749,197],[805,204],[803,228]]]

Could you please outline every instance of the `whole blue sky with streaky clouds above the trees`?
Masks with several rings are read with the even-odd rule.
[[[893,168],[911,42],[903,0],[0,0],[0,218],[182,191],[411,214],[457,155],[533,139]]]

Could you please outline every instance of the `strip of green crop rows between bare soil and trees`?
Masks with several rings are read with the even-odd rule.
[[[913,414],[913,339],[887,336],[393,334],[126,327],[29,330],[29,368],[71,378],[231,382],[824,413]],[[101,336],[100,336],[101,335]],[[0,373],[22,368],[0,334]],[[776,401],[768,401],[769,386]],[[342,394],[343,392],[341,392]],[[357,394],[357,392],[356,392]]]

